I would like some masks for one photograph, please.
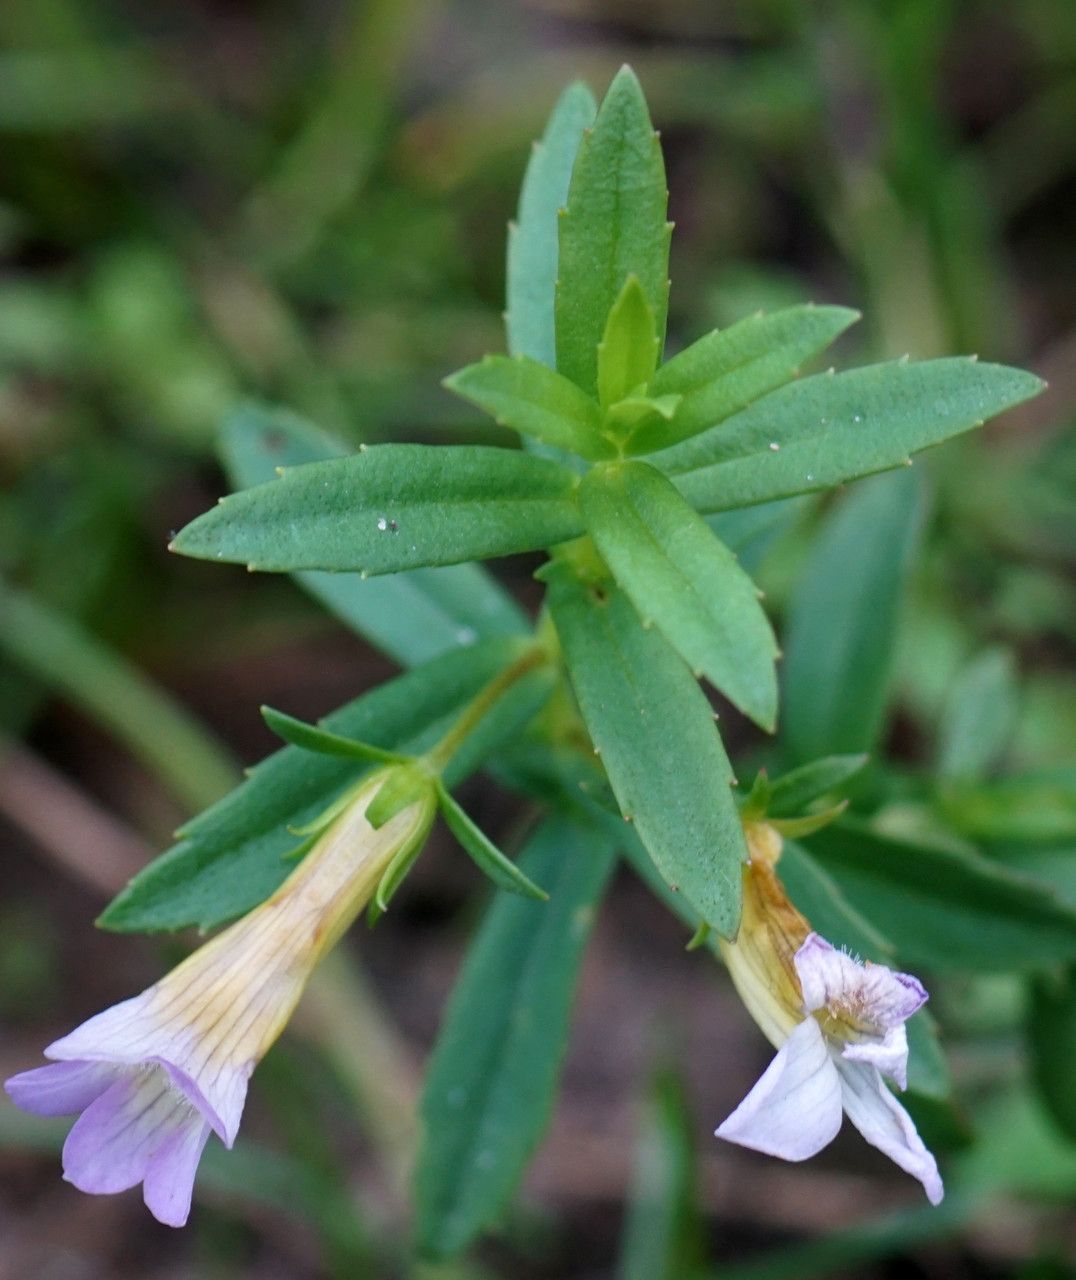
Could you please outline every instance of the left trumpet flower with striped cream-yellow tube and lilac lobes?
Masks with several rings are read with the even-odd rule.
[[[93,1194],[142,1183],[152,1215],[183,1226],[210,1133],[232,1147],[251,1073],[315,965],[392,860],[430,828],[434,804],[425,799],[370,826],[366,810],[385,777],[363,780],[273,897],[141,996],[50,1044],[54,1062],[6,1082],[24,1111],[81,1112],[64,1143],[69,1183]]]

